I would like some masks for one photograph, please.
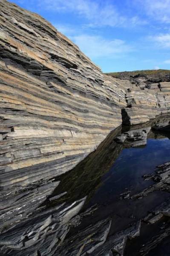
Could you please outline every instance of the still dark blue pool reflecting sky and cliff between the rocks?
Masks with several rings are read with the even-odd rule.
[[[82,219],[78,227],[67,234],[69,239],[97,221],[112,218],[109,236],[126,229],[132,223],[147,216],[156,206],[170,197],[166,191],[154,191],[135,200],[124,198],[131,196],[152,185],[152,180],[144,180],[143,175],[155,172],[156,166],[170,161],[169,134],[158,134],[150,131],[145,145],[134,147],[133,141],[128,146],[116,143],[114,136],[106,140],[99,148],[83,160],[71,172],[63,175],[61,184],[55,193],[67,191],[62,201],[78,200],[86,196],[82,212],[89,207],[97,206],[97,210]],[[170,225],[169,218],[158,221],[152,226],[141,224],[138,238],[127,241],[125,256],[140,256],[141,248],[152,240],[153,234],[160,230],[163,223]],[[169,240],[168,240],[169,241]],[[165,243],[163,246],[162,244]],[[159,251],[150,250],[149,256],[169,255],[167,239],[159,243]],[[161,250],[164,254],[161,254]],[[151,254],[152,253],[152,254]],[[94,254],[95,255],[95,254]]]

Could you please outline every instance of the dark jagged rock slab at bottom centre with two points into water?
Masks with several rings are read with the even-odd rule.
[[[65,240],[59,253],[68,256],[92,255],[107,256],[124,255],[127,239],[133,239],[140,234],[141,221],[132,224],[125,230],[108,237],[111,221],[99,221],[94,226],[89,226],[75,236]]]

